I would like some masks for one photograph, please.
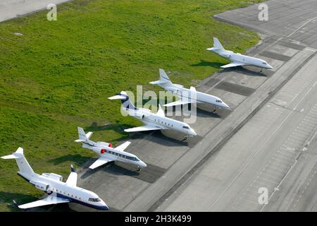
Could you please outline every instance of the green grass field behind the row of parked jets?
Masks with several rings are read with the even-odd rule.
[[[205,49],[216,36],[228,49],[245,52],[259,42],[254,32],[211,16],[247,6],[242,0],[75,0],[0,23],[0,155],[19,146],[36,172],[68,177],[92,152],[73,142],[77,126],[96,131],[93,140],[120,141],[120,125],[139,122],[120,115],[121,90],[160,90],[158,69],[183,85],[197,85],[225,60]],[[15,35],[20,32],[23,35]],[[93,125],[93,126],[92,126]],[[0,211],[17,210],[42,192],[16,175],[14,160],[0,160]]]

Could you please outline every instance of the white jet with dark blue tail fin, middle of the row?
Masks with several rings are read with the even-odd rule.
[[[132,102],[130,102],[130,99],[125,91],[122,91],[113,97],[108,97],[108,99],[121,100],[122,107],[125,112],[128,112],[130,116],[139,119],[145,124],[144,126],[125,129],[126,132],[170,129],[184,133],[186,135],[184,140],[187,140],[188,136],[197,136],[197,133],[195,133],[194,129],[190,128],[190,126],[185,122],[165,117],[165,113],[161,108],[161,105],[159,105],[159,111],[156,114],[152,113],[149,109],[137,108],[132,104]]]

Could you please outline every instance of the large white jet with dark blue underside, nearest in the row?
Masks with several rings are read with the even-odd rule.
[[[102,201],[97,194],[92,191],[82,189],[77,186],[77,173],[73,165],[70,167],[71,172],[63,182],[63,177],[54,173],[43,173],[39,175],[33,171],[23,154],[23,148],[18,148],[12,155],[1,157],[3,159],[15,159],[18,164],[18,175],[33,184],[37,189],[44,191],[49,196],[39,201],[27,203],[18,206],[19,208],[33,208],[37,206],[46,206],[58,203],[80,203],[90,208],[99,210],[108,210],[108,206]]]

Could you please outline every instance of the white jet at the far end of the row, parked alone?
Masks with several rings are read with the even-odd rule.
[[[273,67],[268,64],[268,62],[264,61],[263,59],[255,58],[255,57],[248,57],[242,54],[234,53],[229,50],[225,50],[221,43],[219,42],[218,38],[213,37],[213,47],[208,48],[207,50],[215,52],[221,57],[230,60],[231,64],[226,64],[224,66],[220,66],[223,69],[230,68],[232,66],[257,66],[262,69],[273,69]]]

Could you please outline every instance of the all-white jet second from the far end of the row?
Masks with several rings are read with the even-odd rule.
[[[199,103],[199,104],[209,104],[213,105],[216,108],[226,108],[229,106],[223,102],[219,97],[215,97],[213,95],[209,95],[206,93],[201,93],[196,90],[194,87],[190,87],[189,89],[184,88],[183,85],[173,84],[168,78],[167,74],[163,69],[159,69],[160,80],[150,82],[153,85],[159,85],[161,88],[172,92],[174,95],[180,97],[180,100],[175,102],[170,102],[167,105],[163,105],[165,107],[171,107],[175,105],[186,105],[191,103]],[[216,109],[215,109],[216,111]]]

